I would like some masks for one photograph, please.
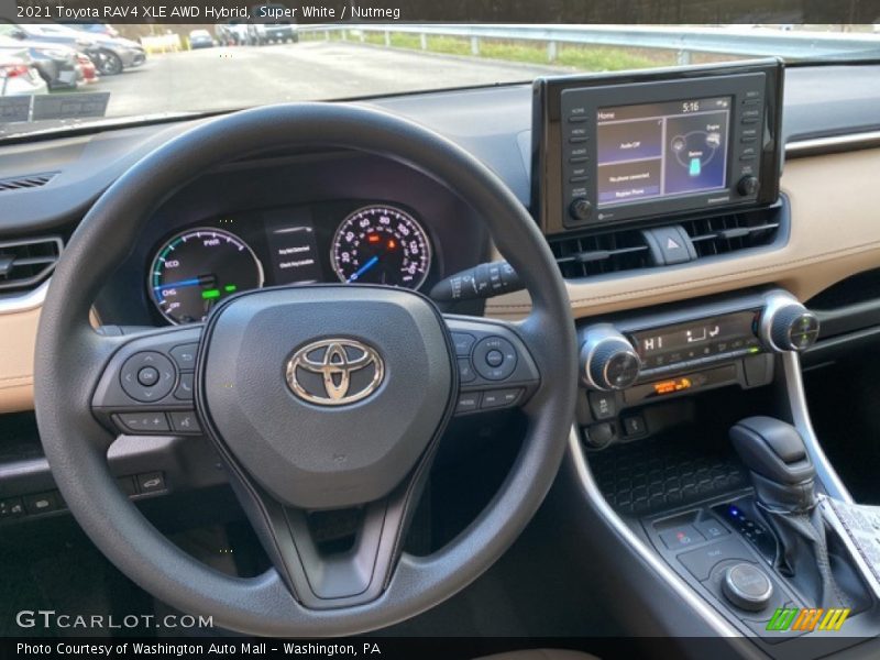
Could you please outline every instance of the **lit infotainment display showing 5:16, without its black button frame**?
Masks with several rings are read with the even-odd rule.
[[[724,190],[732,98],[600,108],[598,208]]]

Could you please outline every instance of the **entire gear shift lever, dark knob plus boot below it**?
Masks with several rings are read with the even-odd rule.
[[[758,508],[779,542],[777,568],[815,606],[846,606],[832,574],[825,522],[816,506],[816,470],[798,430],[772,417],[749,417],[730,440],[751,473]]]

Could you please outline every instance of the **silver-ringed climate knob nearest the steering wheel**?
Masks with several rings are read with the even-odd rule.
[[[594,389],[625,389],[639,377],[641,360],[632,344],[610,326],[597,326],[586,333],[581,346],[582,378]]]

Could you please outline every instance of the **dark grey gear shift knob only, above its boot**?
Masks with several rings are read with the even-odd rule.
[[[798,429],[772,417],[747,417],[730,428],[730,440],[759,502],[791,512],[815,504],[816,469]]]

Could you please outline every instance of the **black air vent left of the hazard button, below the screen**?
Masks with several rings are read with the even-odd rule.
[[[565,278],[634,271],[650,265],[648,245],[639,230],[625,230],[550,242]]]

